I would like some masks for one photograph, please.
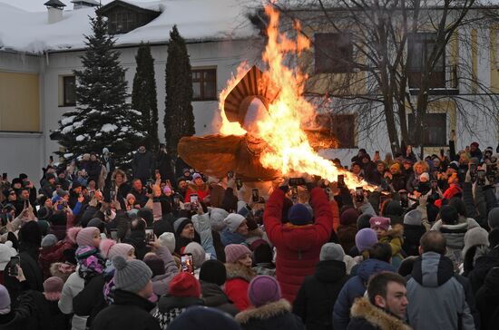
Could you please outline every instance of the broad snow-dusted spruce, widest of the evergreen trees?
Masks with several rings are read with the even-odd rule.
[[[57,152],[66,161],[87,152],[113,153],[117,165],[126,166],[144,138],[141,112],[126,103],[125,70],[119,62],[120,53],[113,50],[115,39],[107,34],[101,15],[90,19],[93,34],[85,35],[87,46],[82,58],[83,70],[76,76],[75,111],[66,112],[59,121],[59,143],[66,152]]]

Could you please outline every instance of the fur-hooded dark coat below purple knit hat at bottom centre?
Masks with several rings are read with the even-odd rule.
[[[305,330],[301,319],[291,313],[286,299],[257,308],[249,308],[236,315],[244,330]]]

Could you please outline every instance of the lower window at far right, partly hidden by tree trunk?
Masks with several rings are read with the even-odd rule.
[[[447,144],[447,114],[426,113],[426,130],[423,131],[423,143],[428,147],[440,147]],[[416,118],[414,114],[408,115],[409,139],[411,143],[416,142]]]

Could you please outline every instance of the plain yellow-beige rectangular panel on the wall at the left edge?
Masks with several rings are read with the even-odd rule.
[[[40,131],[40,86],[35,73],[0,72],[0,131]]]

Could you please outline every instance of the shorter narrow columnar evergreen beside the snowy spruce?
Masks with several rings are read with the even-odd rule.
[[[154,59],[149,44],[141,44],[137,55],[137,72],[133,77],[132,108],[142,112],[142,128],[146,132],[145,146],[158,150],[158,99],[154,79]]]

